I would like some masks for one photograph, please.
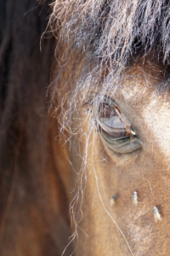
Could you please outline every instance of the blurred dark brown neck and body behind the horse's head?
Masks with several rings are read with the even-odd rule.
[[[0,15],[0,255],[60,256],[71,235],[69,184],[45,90],[56,42],[39,47],[48,3],[1,1]]]

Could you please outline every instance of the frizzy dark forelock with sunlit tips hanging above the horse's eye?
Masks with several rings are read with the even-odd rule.
[[[169,1],[57,0],[50,25],[59,61],[53,99],[64,128],[89,90],[100,86],[99,97],[116,90],[139,59],[169,65]]]

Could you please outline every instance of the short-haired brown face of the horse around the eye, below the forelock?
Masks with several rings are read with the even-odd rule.
[[[105,139],[105,128],[91,136],[81,225],[88,238],[79,234],[83,255],[170,252],[170,101],[169,92],[156,93],[160,76],[154,73],[160,73],[155,65],[148,71],[136,65],[112,96],[133,125],[136,135],[127,143],[138,137],[136,148],[117,149],[111,136]]]

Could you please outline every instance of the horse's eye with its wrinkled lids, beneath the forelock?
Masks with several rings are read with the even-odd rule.
[[[117,153],[127,154],[141,147],[133,125],[111,98],[99,104],[96,123],[102,141]]]

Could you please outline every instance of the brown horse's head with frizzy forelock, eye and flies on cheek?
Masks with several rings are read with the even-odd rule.
[[[78,173],[77,255],[170,252],[169,8],[152,0],[54,6],[66,49],[59,122]]]

